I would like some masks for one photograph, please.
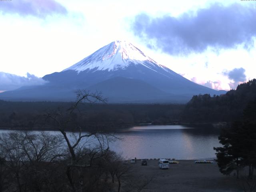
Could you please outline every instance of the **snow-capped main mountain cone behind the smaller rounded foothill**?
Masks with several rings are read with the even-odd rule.
[[[139,79],[172,94],[220,94],[187,80],[145,56],[132,44],[121,41],[112,42],[62,72],[43,78],[50,82],[87,87],[118,76]]]

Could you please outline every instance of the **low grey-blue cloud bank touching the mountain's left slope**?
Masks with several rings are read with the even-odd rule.
[[[27,73],[27,77],[17,76],[14,74],[0,72],[0,90],[9,91],[22,86],[42,85],[46,81],[32,74]]]

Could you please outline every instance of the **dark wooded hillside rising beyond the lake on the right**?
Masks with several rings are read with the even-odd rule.
[[[181,118],[185,122],[232,122],[242,120],[246,105],[256,98],[256,79],[220,96],[196,95],[186,104]]]

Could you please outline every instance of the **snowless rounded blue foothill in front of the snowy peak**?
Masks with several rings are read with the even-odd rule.
[[[189,98],[186,96],[176,96],[169,94],[150,86],[149,84],[136,79],[115,77],[105,80],[98,84],[88,87],[88,90],[101,90],[102,94],[110,98],[109,102],[168,102],[172,99],[174,102],[186,102]]]

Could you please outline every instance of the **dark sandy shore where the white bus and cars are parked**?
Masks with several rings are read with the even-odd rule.
[[[242,191],[234,176],[224,176],[213,164],[196,164],[194,160],[179,160],[167,170],[158,168],[158,160],[131,164],[134,191],[141,192],[238,192]],[[125,180],[125,178],[123,178]],[[128,185],[128,184],[126,184]],[[125,190],[124,190],[125,191]]]

